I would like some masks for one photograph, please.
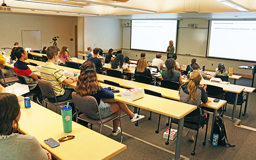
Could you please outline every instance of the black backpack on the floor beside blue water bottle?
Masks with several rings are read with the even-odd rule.
[[[227,133],[225,129],[225,125],[220,116],[217,116],[216,122],[214,124],[214,132],[217,132],[218,137],[218,145],[229,145],[230,147],[235,147],[236,145],[230,145],[230,143],[226,143]]]

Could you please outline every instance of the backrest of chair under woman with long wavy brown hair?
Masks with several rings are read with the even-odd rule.
[[[82,113],[89,115],[99,115],[99,107],[93,96],[80,96],[76,92],[72,93],[76,108]]]

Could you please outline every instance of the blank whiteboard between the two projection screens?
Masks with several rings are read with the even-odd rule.
[[[177,54],[206,57],[208,28],[179,28]]]

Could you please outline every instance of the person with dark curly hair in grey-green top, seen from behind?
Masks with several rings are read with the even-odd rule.
[[[181,73],[175,70],[176,62],[173,58],[166,60],[167,70],[162,72],[162,79],[179,82],[180,85],[183,84],[181,79]]]

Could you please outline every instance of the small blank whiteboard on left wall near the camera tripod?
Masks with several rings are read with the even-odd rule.
[[[41,31],[21,30],[22,47],[41,50]]]

